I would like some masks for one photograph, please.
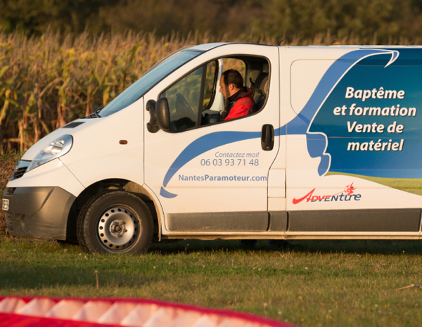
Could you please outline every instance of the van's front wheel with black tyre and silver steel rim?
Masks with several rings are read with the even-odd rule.
[[[91,198],[77,219],[77,239],[88,253],[139,253],[153,240],[153,217],[136,195],[110,191]]]

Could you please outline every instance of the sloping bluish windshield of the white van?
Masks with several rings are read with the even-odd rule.
[[[201,53],[202,51],[181,49],[167,56],[143,74],[140,79],[125,89],[113,101],[108,103],[101,110],[101,117],[113,115],[113,113],[117,113],[117,111],[126,108],[128,105],[132,105],[132,103],[141,98],[143,94],[146,94],[155,84]]]

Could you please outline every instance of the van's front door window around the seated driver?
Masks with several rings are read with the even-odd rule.
[[[219,77],[229,69],[238,70],[243,77],[243,85],[252,90],[255,105],[248,115],[262,110],[269,90],[268,60],[255,56],[219,58],[189,72],[160,94],[159,97],[167,98],[169,103],[170,132],[184,132],[223,122],[221,113],[225,101],[219,92]]]

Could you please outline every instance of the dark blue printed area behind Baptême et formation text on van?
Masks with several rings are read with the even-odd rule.
[[[326,136],[326,151],[319,156],[331,156],[327,171],[422,178],[422,115],[417,115],[422,110],[422,49],[395,51],[399,56],[392,63],[391,55],[383,54],[353,65],[314,116],[307,137]]]

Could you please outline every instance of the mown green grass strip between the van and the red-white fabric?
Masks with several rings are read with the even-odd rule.
[[[0,238],[0,295],[145,297],[300,326],[418,326],[421,241],[181,241],[143,255],[86,255],[77,245]],[[98,271],[99,288],[96,288]]]

